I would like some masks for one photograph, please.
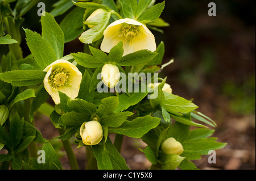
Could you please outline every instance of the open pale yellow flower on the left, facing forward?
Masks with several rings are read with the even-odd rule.
[[[48,65],[44,77],[44,88],[51,95],[55,104],[60,103],[59,92],[63,92],[69,98],[75,99],[79,93],[82,73],[75,65],[67,60],[56,60]]]

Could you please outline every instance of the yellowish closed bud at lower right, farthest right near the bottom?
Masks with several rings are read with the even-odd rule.
[[[175,138],[167,138],[161,145],[161,150],[165,154],[177,154],[180,155],[183,153],[183,146],[179,141],[176,141]]]

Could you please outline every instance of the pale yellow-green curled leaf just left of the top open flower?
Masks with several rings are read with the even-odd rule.
[[[102,15],[102,21],[99,22],[97,26],[94,26],[81,34],[81,36],[79,37],[79,40],[82,43],[90,44],[90,43],[93,43],[94,41],[101,39],[101,37],[103,36],[104,30],[109,24],[111,12],[101,13],[101,15]]]

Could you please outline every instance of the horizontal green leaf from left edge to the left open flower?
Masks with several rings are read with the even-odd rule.
[[[0,73],[0,79],[14,86],[30,86],[42,83],[46,76],[45,71],[40,70],[13,70]]]

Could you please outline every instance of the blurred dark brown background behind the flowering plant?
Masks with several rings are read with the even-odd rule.
[[[50,12],[56,1],[42,2]],[[216,3],[216,16],[208,15],[209,2]],[[41,33],[37,10],[35,6],[24,16],[22,27]],[[56,16],[57,22],[65,15]],[[196,165],[200,169],[255,169],[255,1],[166,0],[160,17],[170,26],[161,28],[164,33],[152,32],[157,44],[164,41],[163,63],[174,58],[161,77],[168,76],[173,94],[193,99],[198,111],[216,121],[213,136],[228,143],[217,150],[216,164],[209,164],[205,156],[195,161]],[[21,32],[23,54],[27,56],[30,51],[24,31]],[[65,44],[64,54],[82,50],[83,44],[76,39]],[[52,129],[39,130],[46,138],[52,138],[47,135],[47,130]],[[146,158],[134,148],[143,146],[141,141],[125,141],[122,154],[128,165],[147,169]],[[84,161],[84,153],[81,159]]]

